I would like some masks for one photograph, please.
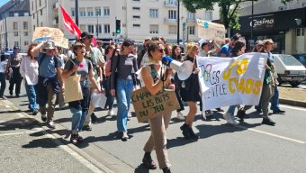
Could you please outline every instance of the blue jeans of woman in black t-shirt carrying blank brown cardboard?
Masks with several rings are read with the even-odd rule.
[[[85,122],[85,117],[87,112],[78,110],[74,107],[70,107],[70,112],[72,113],[72,132],[80,132],[82,131],[83,124]]]

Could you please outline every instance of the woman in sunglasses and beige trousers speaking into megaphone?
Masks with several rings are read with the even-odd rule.
[[[147,87],[151,95],[156,95],[164,87],[171,83],[172,69],[161,68],[161,59],[165,54],[165,48],[159,41],[152,41],[148,45],[148,65],[140,69],[140,81],[142,86]],[[163,75],[161,75],[163,74]],[[148,120],[151,135],[144,146],[145,155],[142,159],[143,164],[149,169],[157,168],[155,161],[151,158],[151,151],[156,150],[159,168],[163,172],[169,173],[170,162],[166,151],[166,128],[171,119],[171,112],[163,116],[156,116]]]

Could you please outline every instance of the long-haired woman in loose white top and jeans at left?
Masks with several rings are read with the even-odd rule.
[[[37,44],[31,44],[27,51],[27,56],[22,60],[20,65],[20,71],[24,74],[25,77],[25,91],[29,99],[29,109],[33,115],[38,113],[38,105],[36,104],[36,92],[37,92],[37,83],[39,76],[39,64],[36,60],[36,57],[31,55],[31,50],[37,46]]]

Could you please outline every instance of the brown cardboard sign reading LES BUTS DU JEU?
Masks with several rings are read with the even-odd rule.
[[[146,87],[141,87],[130,93],[130,99],[139,123],[179,109],[174,90],[160,91],[151,96]]]

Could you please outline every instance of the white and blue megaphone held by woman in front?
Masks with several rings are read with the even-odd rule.
[[[177,72],[177,77],[180,80],[185,80],[193,73],[193,63],[189,60],[183,63],[168,56],[164,56],[161,62],[168,68],[173,68]]]

